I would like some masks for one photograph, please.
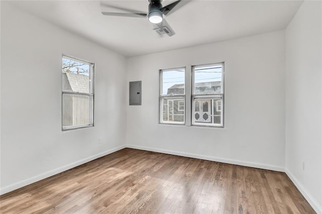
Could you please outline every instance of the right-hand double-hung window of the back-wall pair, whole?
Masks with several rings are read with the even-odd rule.
[[[223,126],[223,63],[192,67],[192,124]]]

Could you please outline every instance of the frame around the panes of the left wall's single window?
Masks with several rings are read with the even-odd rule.
[[[69,59],[73,60],[76,62],[83,62],[86,64],[89,64],[89,78],[90,78],[90,91],[89,93],[81,93],[81,92],[70,92],[70,91],[64,91],[62,89],[62,84],[61,82],[61,130],[62,131],[68,131],[68,130],[74,130],[74,129],[81,129],[81,128],[88,128],[88,127],[94,127],[94,106],[95,106],[95,63],[92,63],[87,60],[79,59],[73,56],[69,56],[66,54],[61,55],[61,60]],[[63,72],[61,73],[63,75]],[[62,78],[61,78],[62,81]],[[71,94],[71,95],[85,95],[89,97],[89,121],[90,124],[82,124],[82,125],[71,125],[71,126],[63,126],[63,96],[64,94]]]

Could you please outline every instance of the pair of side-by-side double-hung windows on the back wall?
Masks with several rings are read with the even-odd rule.
[[[224,63],[187,68],[160,70],[159,123],[223,127]]]

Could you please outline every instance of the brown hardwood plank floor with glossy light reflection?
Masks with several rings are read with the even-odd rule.
[[[1,213],[315,213],[282,172],[122,149],[0,198]]]

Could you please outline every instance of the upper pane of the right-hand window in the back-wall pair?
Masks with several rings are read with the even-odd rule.
[[[222,65],[194,67],[194,94],[221,94]]]

